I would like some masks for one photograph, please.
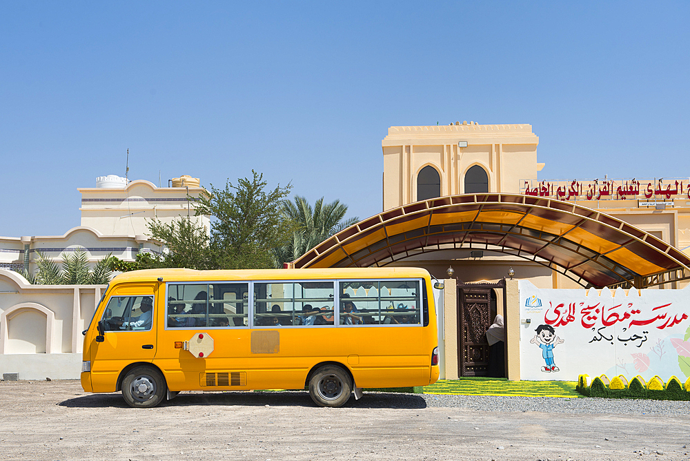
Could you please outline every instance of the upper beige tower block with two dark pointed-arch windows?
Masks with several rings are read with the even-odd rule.
[[[517,193],[519,179],[536,180],[544,167],[538,144],[526,124],[391,126],[382,141],[383,209],[441,195]]]

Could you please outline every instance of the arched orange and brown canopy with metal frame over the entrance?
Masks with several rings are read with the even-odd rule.
[[[530,259],[582,286],[643,288],[690,279],[690,258],[644,230],[569,202],[509,194],[454,195],[393,208],[333,235],[293,264],[385,266],[453,248]]]

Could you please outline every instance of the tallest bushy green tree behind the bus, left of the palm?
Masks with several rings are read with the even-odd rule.
[[[274,248],[292,237],[292,223],[281,213],[282,200],[292,186],[266,188],[264,175],[230,180],[225,188],[211,185],[210,194],[199,197],[197,215],[211,215],[211,268],[271,268],[276,266]]]

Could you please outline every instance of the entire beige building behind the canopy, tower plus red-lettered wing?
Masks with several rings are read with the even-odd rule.
[[[382,141],[383,210],[465,193],[522,194],[558,199],[633,224],[690,255],[690,180],[573,179],[538,181],[539,138],[529,124],[391,126]],[[644,172],[640,172],[643,174]],[[650,192],[651,191],[651,192]],[[577,288],[540,264],[491,250],[413,255],[393,264],[415,264],[444,277],[453,267],[463,282],[497,281],[513,267],[517,277],[542,288]],[[678,288],[687,282],[678,282]],[[671,284],[664,285],[669,288]]]

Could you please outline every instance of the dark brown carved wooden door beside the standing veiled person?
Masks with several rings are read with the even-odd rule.
[[[485,376],[489,364],[486,330],[491,326],[491,288],[458,288],[459,376]]]

